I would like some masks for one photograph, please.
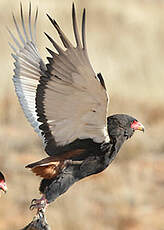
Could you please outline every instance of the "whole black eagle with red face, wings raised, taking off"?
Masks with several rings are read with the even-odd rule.
[[[9,30],[15,45],[10,43],[15,59],[13,81],[27,120],[43,141],[48,154],[27,165],[43,179],[41,199],[34,199],[31,209],[44,209],[47,204],[76,181],[103,171],[115,158],[125,140],[143,125],[126,114],[108,117],[108,93],[101,73],[90,64],[85,34],[85,9],[80,36],[74,4],[73,32],[76,45],[66,37],[58,23],[48,18],[56,29],[61,47],[47,33],[54,47],[47,48],[51,57],[45,64],[36,45],[36,21],[32,20],[31,4],[26,25],[21,5],[21,28],[13,15],[18,39]]]

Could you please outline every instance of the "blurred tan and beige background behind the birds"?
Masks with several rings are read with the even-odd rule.
[[[72,40],[72,0],[31,0],[39,8],[38,49],[46,61],[51,47],[43,32],[57,39],[46,17],[55,17]],[[103,173],[74,185],[51,204],[47,219],[58,230],[163,230],[164,226],[164,1],[74,0],[81,23],[87,10],[91,63],[105,78],[109,113],[127,113],[145,126],[124,144]],[[27,16],[29,1],[23,0]],[[12,83],[12,12],[20,24],[20,0],[0,0],[0,170],[8,193],[0,198],[0,229],[20,229],[34,213],[40,178],[24,166],[45,157],[39,138],[26,121]]]

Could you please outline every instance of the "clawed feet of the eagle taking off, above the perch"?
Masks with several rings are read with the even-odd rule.
[[[47,205],[47,199],[45,198],[45,195],[43,195],[40,199],[33,199],[31,201],[30,210],[37,209],[37,213],[40,211],[45,212]]]

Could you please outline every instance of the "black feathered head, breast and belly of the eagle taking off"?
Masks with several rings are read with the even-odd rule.
[[[125,114],[108,117],[108,133],[111,141],[106,144],[107,146],[102,144],[101,152],[97,154],[93,152],[82,161],[72,161],[55,178],[41,181],[39,190],[45,195],[47,202],[54,201],[75,182],[106,169],[116,157],[123,143],[133,135],[134,130],[130,127],[133,121],[136,119]]]

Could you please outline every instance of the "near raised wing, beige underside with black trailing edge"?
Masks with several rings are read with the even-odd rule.
[[[109,140],[106,130],[107,93],[101,74],[94,73],[88,59],[85,40],[85,9],[82,18],[82,43],[75,8],[72,8],[76,47],[67,39],[57,22],[48,16],[66,48],[63,50],[48,34],[58,53],[49,50],[47,76],[37,88],[36,103],[46,151],[53,155],[55,146],[65,146],[78,139],[96,143]]]

